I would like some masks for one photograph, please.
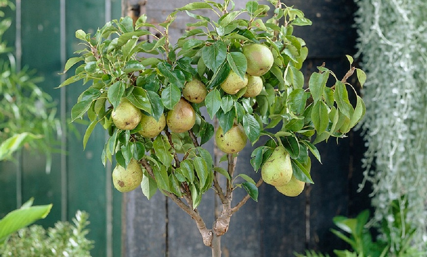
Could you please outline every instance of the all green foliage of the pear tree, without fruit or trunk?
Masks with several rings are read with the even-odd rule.
[[[230,171],[214,167],[211,154],[201,147],[212,138],[212,120],[217,119],[224,133],[241,124],[252,145],[262,136],[270,138],[251,155],[255,171],[277,145],[283,145],[292,157],[294,176],[313,182],[309,153],[320,161],[315,144],[344,137],[363,117],[365,105],[357,97],[353,107],[347,77],[339,80],[323,66],[305,81],[300,69],[308,49],[293,31],[295,26],[311,25],[311,21],[292,6],[277,0],[269,2],[274,8],[271,18],[267,17],[270,5],[258,1],[248,1],[245,8],[236,10],[232,0],[222,4],[205,0],[178,8],[158,25],[147,23],[142,15],[135,24],[129,17],[108,22],[93,35],[76,31],[84,48],[67,61],[64,72],[80,64],[59,87],[79,80],[88,85],[71,112],[73,121],[85,115],[90,120],[83,146],[95,126],[101,124],[110,135],[102,154],[104,164],[114,154],[124,167],[131,158],[138,159],[148,175],[142,182],[148,198],[159,188],[178,197],[187,196],[194,207],[212,186],[214,173],[233,180]],[[214,18],[198,14],[199,10],[210,11]],[[187,24],[191,29],[176,44],[171,44],[169,27],[182,12],[194,22]],[[230,71],[244,77],[247,60],[242,47],[248,44],[267,46],[274,57],[273,66],[262,76],[264,87],[257,97],[243,97],[245,88],[229,95],[220,85]],[[350,58],[350,71],[354,71]],[[357,74],[363,83],[363,71],[357,69]],[[123,98],[159,120],[178,103],[186,82],[192,79],[201,80],[208,94],[204,102],[191,104],[197,117],[188,133],[171,133],[165,128],[155,139],[147,139],[136,133],[139,127],[124,131],[113,125],[112,110]],[[334,80],[332,87],[326,86],[328,79]],[[204,117],[203,109],[209,117]],[[181,159],[178,154],[183,154]],[[254,180],[242,179],[245,182],[236,186],[256,199]]]

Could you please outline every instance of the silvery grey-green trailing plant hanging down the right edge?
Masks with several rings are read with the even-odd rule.
[[[358,49],[367,72],[361,123],[367,151],[365,182],[373,184],[374,224],[386,220],[391,252],[416,228],[413,246],[427,251],[427,2],[355,0]],[[400,201],[396,229],[392,201]],[[403,208],[403,207],[402,207]]]

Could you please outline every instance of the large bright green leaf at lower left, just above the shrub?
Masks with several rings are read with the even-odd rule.
[[[21,208],[13,210],[6,214],[0,220],[0,245],[7,237],[39,219],[44,219],[52,209],[52,204],[43,206],[31,206],[31,198]]]

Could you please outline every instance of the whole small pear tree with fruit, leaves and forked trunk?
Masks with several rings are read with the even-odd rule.
[[[280,0],[268,3],[248,1],[236,9],[232,0],[204,0],[156,26],[142,15],[135,23],[112,20],[93,34],[79,29],[84,48],[66,62],[64,72],[76,69],[59,86],[83,81],[71,118],[89,120],[83,148],[95,126],[107,130],[101,161],[117,163],[114,186],[140,187],[149,200],[157,191],[170,198],[195,221],[214,257],[221,255],[231,216],[249,199],[257,201],[263,181],[297,196],[313,183],[311,156],[321,161],[315,145],[345,137],[365,113],[347,82],[354,72],[361,85],[366,79],[351,56],[341,79],[324,64],[304,77],[308,49],[293,32],[311,21]],[[202,9],[216,18],[200,15]],[[168,31],[179,15],[193,19],[192,29],[172,44]],[[356,95],[353,105],[347,90]],[[266,143],[245,160],[253,173],[236,175],[239,152],[260,138]],[[210,140],[226,168],[204,148]],[[208,190],[222,203],[212,227],[197,209]],[[247,192],[237,203],[235,190]]]

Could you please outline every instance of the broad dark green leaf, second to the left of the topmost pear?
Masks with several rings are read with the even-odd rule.
[[[227,46],[222,41],[216,41],[211,46],[202,48],[202,58],[206,67],[216,73],[221,64],[225,61]]]

